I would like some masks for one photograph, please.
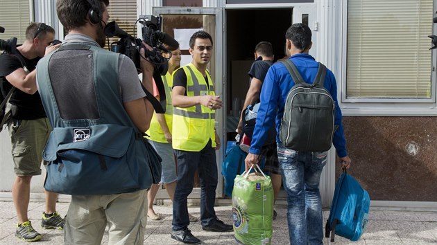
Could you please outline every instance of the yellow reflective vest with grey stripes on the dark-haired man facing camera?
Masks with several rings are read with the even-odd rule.
[[[187,96],[215,95],[214,85],[206,71],[207,81],[202,73],[193,64],[180,67],[187,75]],[[195,105],[193,107],[173,108],[173,149],[188,152],[200,152],[205,148],[208,141],[212,141],[212,147],[216,147],[214,134],[215,111]]]

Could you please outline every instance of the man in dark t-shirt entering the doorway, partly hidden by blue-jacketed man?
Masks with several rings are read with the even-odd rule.
[[[255,105],[259,102],[259,93],[262,90],[262,84],[264,78],[270,66],[273,64],[273,46],[270,42],[259,42],[255,46],[255,62],[250,66],[248,75],[250,77],[250,87],[246,93],[246,99],[244,100],[243,109],[246,109],[248,105]],[[241,112],[240,121],[237,128],[237,133],[241,134],[243,132],[243,115],[244,110]],[[253,126],[250,126],[253,129]],[[252,132],[250,132],[252,133]],[[251,134],[250,134],[251,136]],[[279,194],[282,185],[281,170],[279,167],[279,162],[277,161],[277,151],[276,151],[276,128],[272,125],[268,139],[262,147],[261,156],[265,158],[266,164],[264,165],[264,171],[268,172],[271,177],[274,200],[277,199],[277,194]],[[277,213],[273,210],[273,219],[276,219]]]

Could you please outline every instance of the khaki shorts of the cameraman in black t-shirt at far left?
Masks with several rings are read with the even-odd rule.
[[[40,175],[42,152],[51,132],[49,120],[11,120],[8,129],[15,174]]]

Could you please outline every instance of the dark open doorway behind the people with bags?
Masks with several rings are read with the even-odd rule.
[[[226,10],[226,131],[234,140],[241,107],[249,88],[248,71],[255,46],[271,42],[275,61],[284,57],[285,32],[293,20],[292,8]]]

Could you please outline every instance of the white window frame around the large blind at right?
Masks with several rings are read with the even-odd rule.
[[[433,11],[436,13],[436,1]],[[346,98],[348,63],[348,3],[343,2],[341,47],[341,98],[339,104],[347,116],[437,116],[436,89],[436,49],[431,51],[431,98]],[[430,19],[429,21],[432,21]],[[432,33],[436,35],[437,24],[433,24]],[[431,40],[430,40],[431,41]],[[431,42],[430,42],[431,43]],[[429,46],[431,48],[431,44]],[[338,82],[338,83],[339,83]]]

